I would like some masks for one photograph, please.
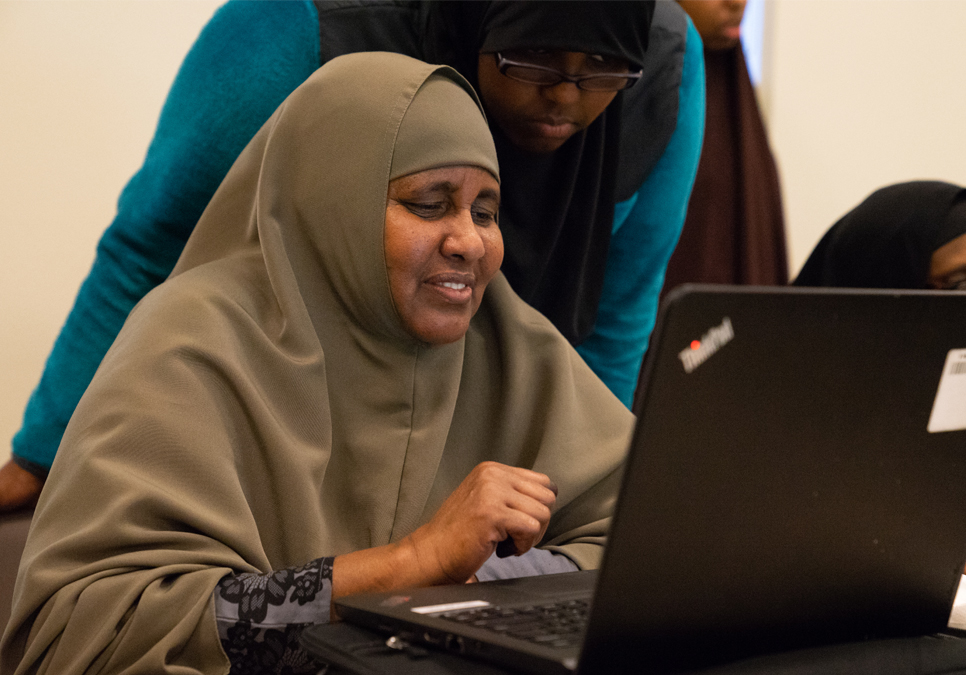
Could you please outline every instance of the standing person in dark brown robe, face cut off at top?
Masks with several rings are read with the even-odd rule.
[[[788,281],[778,170],[741,47],[745,0],[679,0],[704,42],[704,147],[664,291]]]

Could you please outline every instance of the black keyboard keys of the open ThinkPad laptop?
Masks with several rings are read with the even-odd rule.
[[[492,630],[548,647],[572,647],[581,642],[587,625],[587,600],[563,600],[540,605],[491,605],[438,615],[441,619]]]

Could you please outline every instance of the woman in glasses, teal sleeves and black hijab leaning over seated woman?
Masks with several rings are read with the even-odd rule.
[[[704,125],[701,40],[674,3],[242,2],[185,58],[0,469],[31,504],[131,308],[163,281],[238,153],[341,54],[389,51],[478,85],[507,188],[504,273],[630,405]],[[360,87],[365,87],[360,80]]]

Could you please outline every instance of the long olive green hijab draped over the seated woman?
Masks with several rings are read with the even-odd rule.
[[[598,563],[623,405],[500,275],[453,344],[393,307],[388,182],[446,165],[498,175],[449,68],[349,55],[282,104],[71,420],[0,670],[227,673],[222,577],[398,541],[484,460],[549,474],[546,547]]]

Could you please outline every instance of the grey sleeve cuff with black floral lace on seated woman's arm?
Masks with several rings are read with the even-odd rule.
[[[333,560],[221,580],[214,592],[215,620],[231,675],[319,671],[299,637],[305,626],[329,621]]]

